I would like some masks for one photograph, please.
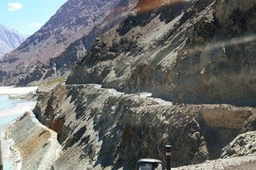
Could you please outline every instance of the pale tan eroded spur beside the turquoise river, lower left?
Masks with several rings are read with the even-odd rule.
[[[51,169],[61,151],[57,133],[40,124],[31,112],[16,120],[8,135],[14,142],[12,150],[22,157],[22,169]]]

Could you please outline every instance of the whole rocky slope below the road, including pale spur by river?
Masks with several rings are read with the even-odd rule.
[[[223,118],[210,124],[216,109]],[[135,169],[140,158],[164,161],[165,144],[173,145],[173,167],[229,158],[178,169],[255,167],[255,127],[247,127],[255,122],[254,108],[174,105],[150,93],[87,84],[56,87],[33,113],[57,134],[30,113],[9,127],[13,148],[23,157],[22,169]]]

